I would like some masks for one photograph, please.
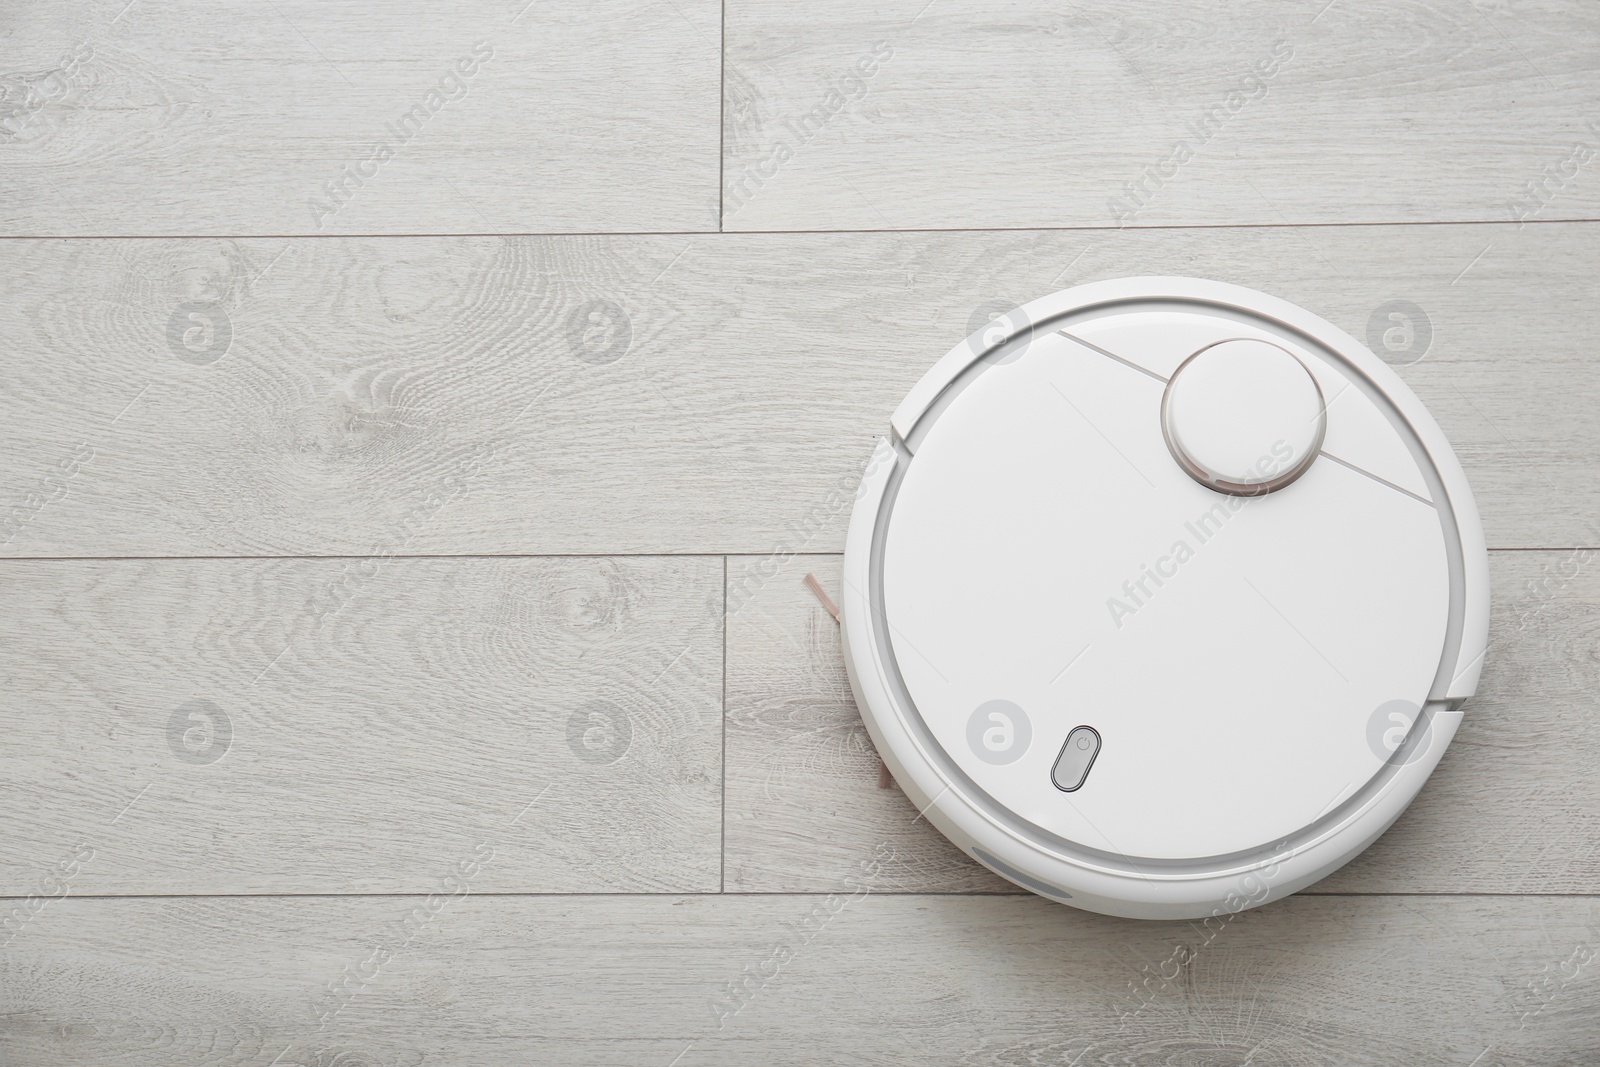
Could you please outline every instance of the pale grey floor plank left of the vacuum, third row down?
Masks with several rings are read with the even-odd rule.
[[[74,896],[426,893],[485,840],[485,891],[720,886],[722,560],[6,561],[0,589],[0,893],[54,893],[80,848]]]

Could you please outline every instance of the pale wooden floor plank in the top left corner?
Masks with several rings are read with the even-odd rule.
[[[0,234],[715,230],[718,21],[714,0],[8,3]]]

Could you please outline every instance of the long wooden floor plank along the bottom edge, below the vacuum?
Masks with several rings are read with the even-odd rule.
[[[29,1067],[1600,1054],[1594,899],[1293,897],[1202,926],[1038,897],[466,896],[406,934],[413,907],[51,904],[0,953],[0,1046]]]

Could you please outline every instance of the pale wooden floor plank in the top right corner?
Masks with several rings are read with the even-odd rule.
[[[736,0],[726,35],[730,230],[1600,213],[1581,0]]]

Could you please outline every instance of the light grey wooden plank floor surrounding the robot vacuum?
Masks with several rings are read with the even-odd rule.
[[[0,237],[5,1067],[1600,1062],[1594,3],[11,0]],[[1493,549],[1434,781],[1216,929],[931,832],[802,585],[1131,274],[1397,328]]]

